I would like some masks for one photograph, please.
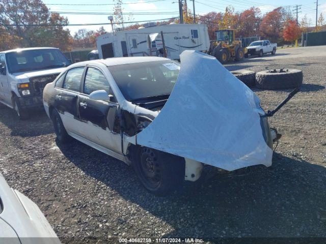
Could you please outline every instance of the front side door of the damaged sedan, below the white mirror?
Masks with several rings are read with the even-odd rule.
[[[89,95],[96,90],[105,90],[111,101],[95,101]],[[106,149],[121,153],[120,122],[117,118],[118,103],[101,70],[88,67],[78,101],[79,118],[84,123],[80,130],[86,139]]]

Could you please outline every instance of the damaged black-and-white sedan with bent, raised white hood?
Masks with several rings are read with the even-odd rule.
[[[278,139],[252,90],[197,51],[181,54],[181,69],[161,57],[76,63],[45,86],[43,102],[59,141],[131,164],[160,195],[196,181],[203,165],[270,166]]]

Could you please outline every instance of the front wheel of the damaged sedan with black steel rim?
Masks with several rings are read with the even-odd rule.
[[[184,180],[183,158],[149,147],[136,150],[132,165],[142,185],[155,195],[167,195]]]

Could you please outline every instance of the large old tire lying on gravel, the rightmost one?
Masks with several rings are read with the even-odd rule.
[[[260,71],[256,73],[256,86],[260,89],[289,89],[302,85],[301,70],[288,70],[287,72],[270,73]]]

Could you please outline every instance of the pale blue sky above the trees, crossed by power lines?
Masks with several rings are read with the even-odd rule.
[[[165,19],[174,16],[178,16],[178,3],[177,0],[128,0],[124,1],[123,12],[126,13],[126,20],[130,19],[130,15],[127,13],[133,13],[130,21],[143,21],[143,20],[155,20],[155,19]],[[302,5],[302,13],[298,15],[299,20],[307,14],[308,19],[311,19],[311,25],[315,24],[316,4],[315,0],[274,0],[274,1],[264,1],[264,0],[195,0],[196,14],[205,14],[211,11],[221,12],[227,6],[231,5],[234,7],[235,11],[241,11],[248,9],[250,7],[259,7],[262,13],[268,12],[277,8],[279,6],[288,7],[293,9],[293,6]],[[87,6],[87,4],[114,4],[112,0],[44,0],[48,8],[51,11],[58,12],[96,12],[96,13],[113,13],[113,5],[106,6]],[[67,6],[67,5],[51,5],[51,4],[86,4],[84,6]],[[326,0],[318,1],[318,15],[320,12],[323,13],[326,19]],[[193,2],[187,0],[188,7],[193,10]],[[209,5],[210,7],[208,7]],[[159,12],[159,13],[158,13]],[[162,13],[164,12],[164,13]],[[144,14],[146,13],[146,14]],[[62,14],[66,16],[70,24],[82,24],[82,23],[106,23],[107,15],[75,15],[75,14]],[[73,35],[79,28],[87,29],[98,29],[100,26],[69,26],[71,34]],[[109,24],[104,25],[106,31],[111,32],[111,26]]]

